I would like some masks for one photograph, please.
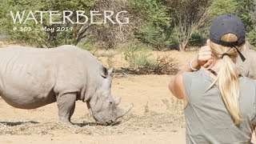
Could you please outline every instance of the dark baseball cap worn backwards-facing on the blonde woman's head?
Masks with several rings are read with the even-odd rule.
[[[222,41],[222,35],[228,33],[235,34],[238,37],[238,41]],[[241,19],[234,14],[222,14],[217,18],[214,18],[214,21],[210,26],[210,41],[222,46],[234,47],[238,51],[242,61],[244,62],[246,60],[237,47],[246,42],[246,28]]]

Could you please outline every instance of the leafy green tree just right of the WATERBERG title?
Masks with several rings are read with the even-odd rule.
[[[170,46],[169,40],[172,18],[167,7],[160,0],[131,0],[132,14],[136,15],[138,27],[134,30],[135,38],[161,50]]]

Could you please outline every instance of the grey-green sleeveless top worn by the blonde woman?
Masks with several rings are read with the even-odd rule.
[[[186,143],[250,143],[256,124],[256,82],[250,78],[239,78],[240,125],[235,126],[226,110],[222,96],[206,70],[182,74],[187,105]]]

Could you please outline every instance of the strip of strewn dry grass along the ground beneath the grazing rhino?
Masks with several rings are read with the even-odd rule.
[[[0,123],[0,135],[2,134],[52,134],[61,131],[64,134],[86,134],[86,135],[114,135],[114,134],[144,134],[150,131],[175,132],[184,126],[184,118],[182,114],[182,106],[180,102],[170,103],[164,99],[167,112],[158,113],[150,110],[148,104],[145,105],[144,114],[126,114],[123,118],[113,126],[100,126],[94,123],[94,119],[90,114],[77,119],[72,119],[74,128],[62,125],[59,122],[42,122],[26,121]],[[162,106],[165,106],[162,105]],[[175,106],[174,106],[175,105]],[[174,106],[173,110],[171,107]],[[86,122],[85,122],[86,121]]]

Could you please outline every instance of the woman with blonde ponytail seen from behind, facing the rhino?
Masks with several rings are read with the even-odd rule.
[[[218,16],[207,46],[171,80],[171,93],[186,103],[187,143],[250,143],[256,83],[235,66],[238,56],[246,60],[240,50],[248,46],[242,21],[232,14]]]

